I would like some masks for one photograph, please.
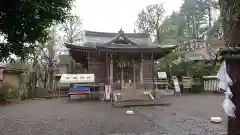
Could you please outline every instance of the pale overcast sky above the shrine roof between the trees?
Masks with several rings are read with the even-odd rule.
[[[138,12],[150,4],[163,3],[167,14],[178,11],[182,0],[76,0],[73,13],[83,20],[84,30],[133,32]]]

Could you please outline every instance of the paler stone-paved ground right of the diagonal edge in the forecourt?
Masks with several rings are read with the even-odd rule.
[[[223,98],[219,95],[191,95],[171,98],[172,106],[134,109],[159,128],[164,128],[168,135],[225,135],[226,116],[221,107]],[[221,116],[224,122],[211,123],[211,116]]]

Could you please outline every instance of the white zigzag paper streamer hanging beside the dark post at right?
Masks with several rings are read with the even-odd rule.
[[[234,112],[236,110],[236,106],[232,103],[230,99],[232,98],[233,94],[229,88],[229,86],[231,86],[233,82],[227,73],[226,61],[222,62],[220,70],[217,74],[217,78],[219,79],[219,88],[225,91],[225,99],[222,103],[223,109],[228,116],[235,118],[236,116]]]

